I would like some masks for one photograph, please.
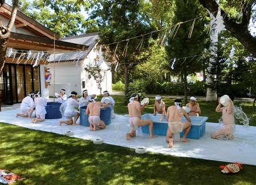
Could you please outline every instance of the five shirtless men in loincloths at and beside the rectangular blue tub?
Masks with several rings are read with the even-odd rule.
[[[126,133],[126,140],[130,140],[130,137],[135,137],[136,132],[139,127],[143,127],[144,125],[148,125],[148,130],[150,132],[150,138],[154,138],[153,134],[153,122],[150,119],[141,119],[141,112],[144,110],[144,107],[147,106],[147,103],[141,105],[138,102],[138,95],[131,94],[131,98],[128,103],[128,111],[129,111],[129,123],[130,123],[130,133]],[[222,127],[217,129],[216,132],[211,134],[212,138],[224,138],[228,139],[234,138],[234,108],[233,108],[233,100],[228,99],[228,104],[224,107],[221,107],[221,103],[219,102],[216,112],[222,112]],[[187,135],[192,127],[191,118],[189,116],[199,116],[201,113],[199,103],[196,102],[196,98],[192,96],[190,98],[190,102],[186,104],[186,107],[189,108],[189,112],[187,113],[181,106],[182,101],[180,99],[175,99],[174,105],[167,108],[166,112],[166,104],[163,102],[162,97],[160,95],[155,96],[155,105],[154,105],[154,113],[162,115],[159,121],[163,120],[163,117],[166,115],[166,120],[168,121],[168,129],[166,133],[166,142],[168,142],[169,147],[172,148],[174,146],[174,134],[180,133],[184,131],[183,138],[181,141],[189,142],[187,140]],[[187,121],[181,122],[182,117],[185,117]]]

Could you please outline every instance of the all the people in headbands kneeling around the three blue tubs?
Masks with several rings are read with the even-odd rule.
[[[108,101],[106,101],[108,99]],[[96,128],[104,129],[106,128],[105,123],[100,119],[100,110],[101,108],[110,107],[111,116],[114,118],[114,99],[109,95],[108,91],[104,91],[104,97],[101,99],[101,102],[98,102],[97,96],[93,94],[92,96],[88,95],[88,91],[84,90],[82,92],[82,97],[78,100],[77,93],[72,91],[69,98],[65,95],[65,90],[61,89],[60,95],[56,100],[56,103],[64,103],[67,101],[67,107],[64,111],[64,116],[67,120],[59,121],[59,125],[65,123],[67,125],[78,125],[76,123],[77,119],[79,119],[80,113],[76,111],[76,107],[79,109],[83,106],[87,106],[86,115],[89,115],[88,121],[90,124],[90,131],[96,131]],[[189,108],[189,112],[187,113],[181,106],[182,102],[180,99],[175,99],[174,105],[167,108],[166,104],[163,102],[163,99],[160,95],[155,96],[155,104],[154,104],[154,113],[162,115],[159,121],[162,121],[164,116],[166,115],[166,120],[168,121],[168,129],[166,133],[166,142],[168,142],[169,147],[173,147],[173,136],[174,134],[180,133],[184,131],[183,138],[181,141],[189,142],[187,140],[187,135],[191,129],[191,118],[189,116],[199,116],[201,113],[199,103],[196,102],[195,97],[190,98],[190,102],[186,104],[186,107]],[[28,117],[32,118],[32,112],[36,110],[36,117],[32,118],[32,122],[36,123],[37,121],[44,121],[46,115],[46,105],[47,101],[42,96],[40,96],[40,92],[36,91],[30,92],[26,98],[22,100],[20,105],[20,110],[22,113],[17,113],[16,117]],[[147,106],[147,103],[141,105],[138,101],[138,95],[136,93],[131,94],[131,98],[129,103],[127,104],[129,111],[129,124],[130,124],[130,132],[126,133],[126,140],[130,140],[130,137],[136,136],[136,131],[143,127],[144,125],[148,125],[148,129],[150,132],[150,138],[154,138],[153,134],[153,121],[150,119],[141,119],[141,112],[144,110],[144,107]],[[221,103],[219,102],[216,107],[216,112],[222,112],[222,127],[217,129],[214,133],[211,134],[212,138],[234,138],[234,106],[233,99],[228,99],[228,104],[224,107],[221,107]],[[181,122],[181,118],[185,117],[187,121]],[[74,120],[73,120],[74,117]]]

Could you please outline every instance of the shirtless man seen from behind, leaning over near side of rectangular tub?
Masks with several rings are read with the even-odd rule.
[[[174,136],[176,133],[182,132],[183,130],[184,134],[182,141],[189,142],[186,137],[191,129],[191,119],[188,116],[188,113],[183,108],[181,108],[181,103],[182,102],[180,99],[175,99],[174,106],[170,106],[167,109],[166,119],[168,121],[168,130],[166,133],[166,142],[169,143],[170,148],[174,146],[174,140],[172,139],[172,136]],[[183,116],[185,116],[188,122],[181,122],[181,118]]]

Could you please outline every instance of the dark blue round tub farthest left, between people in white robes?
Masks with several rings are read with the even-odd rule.
[[[59,119],[62,117],[60,112],[61,103],[47,102],[46,119]]]

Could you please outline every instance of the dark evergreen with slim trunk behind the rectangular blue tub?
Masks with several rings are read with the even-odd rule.
[[[202,16],[204,14],[203,7],[199,6],[197,2],[180,0],[175,2],[175,7],[175,16],[172,22],[177,26],[172,28],[175,34],[170,34],[171,36],[168,37],[166,48],[170,58],[181,58],[176,61],[172,60],[170,68],[174,67],[172,73],[180,76],[181,85],[184,85],[185,103],[187,103],[187,76],[201,71],[201,62],[198,57],[188,56],[203,53],[207,45],[207,32],[205,31],[207,20]],[[189,10],[183,11],[188,7]],[[195,24],[192,21],[185,22],[192,19],[195,19]]]

